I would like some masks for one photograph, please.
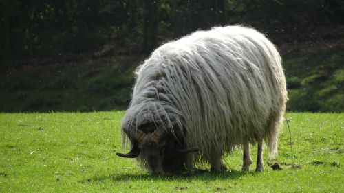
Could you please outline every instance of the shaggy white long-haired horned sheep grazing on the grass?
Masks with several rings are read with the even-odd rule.
[[[123,144],[149,174],[193,172],[195,165],[226,170],[224,155],[243,148],[243,171],[257,144],[277,153],[288,100],[281,57],[255,29],[213,27],[166,43],[136,70],[132,100],[122,120]]]

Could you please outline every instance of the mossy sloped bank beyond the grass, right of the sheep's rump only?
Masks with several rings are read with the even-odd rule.
[[[344,111],[344,50],[287,56],[288,111]]]

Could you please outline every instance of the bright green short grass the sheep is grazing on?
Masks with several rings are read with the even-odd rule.
[[[344,113],[287,113],[278,161],[263,173],[241,172],[241,151],[225,158],[230,171],[149,177],[124,152],[123,111],[1,113],[0,192],[343,192]],[[256,157],[256,147],[252,157]],[[269,162],[264,155],[264,163]],[[275,162],[270,161],[270,162]],[[251,170],[254,170],[255,163]]]

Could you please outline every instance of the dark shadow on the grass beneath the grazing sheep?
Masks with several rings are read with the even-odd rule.
[[[257,172],[241,172],[236,170],[230,170],[226,172],[213,173],[209,171],[197,171],[194,174],[164,174],[158,176],[150,176],[149,174],[109,174],[103,177],[94,177],[86,179],[81,182],[100,182],[100,181],[151,181],[151,180],[174,180],[174,181],[185,181],[185,180],[200,180],[200,181],[215,181],[225,179],[239,179],[244,175],[256,175]]]

